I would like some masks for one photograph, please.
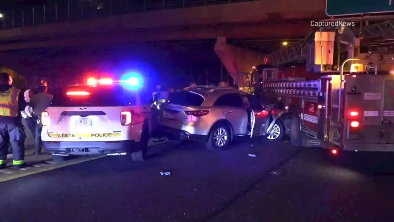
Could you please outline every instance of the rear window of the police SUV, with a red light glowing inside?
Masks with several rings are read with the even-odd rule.
[[[69,93],[69,95],[67,95]],[[75,86],[54,94],[52,107],[136,105],[136,97],[121,86]]]

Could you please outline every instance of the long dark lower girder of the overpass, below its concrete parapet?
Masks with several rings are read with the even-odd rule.
[[[150,28],[141,30],[119,30],[111,33],[86,34],[63,37],[52,37],[37,40],[0,45],[0,51],[46,48],[46,47],[73,47],[102,45],[108,43],[168,41],[168,40],[198,40],[216,39],[217,36],[226,36],[231,39],[247,38],[294,38],[305,36],[312,28],[307,21],[270,22],[270,23],[229,23],[216,25],[199,25],[188,27]]]

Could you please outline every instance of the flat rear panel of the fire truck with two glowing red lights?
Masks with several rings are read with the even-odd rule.
[[[353,143],[394,143],[394,76],[359,75],[348,76],[347,80],[344,116],[348,127],[344,139]],[[350,115],[353,110],[358,116]],[[352,129],[352,121],[359,121],[360,126]]]

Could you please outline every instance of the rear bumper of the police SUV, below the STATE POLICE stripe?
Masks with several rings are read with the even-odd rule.
[[[103,155],[120,154],[138,151],[138,143],[134,140],[99,141],[99,142],[52,142],[43,141],[48,154],[58,155]]]

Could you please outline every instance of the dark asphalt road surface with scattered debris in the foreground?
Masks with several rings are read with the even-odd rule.
[[[394,155],[163,143],[0,183],[1,222],[390,221]],[[255,157],[249,156],[255,154]],[[170,175],[160,175],[169,171]]]

